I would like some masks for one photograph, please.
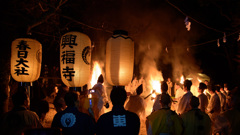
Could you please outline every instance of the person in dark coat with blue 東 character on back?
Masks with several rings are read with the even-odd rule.
[[[140,119],[136,113],[124,109],[126,98],[123,87],[113,87],[110,94],[113,108],[98,119],[97,135],[138,135]]]

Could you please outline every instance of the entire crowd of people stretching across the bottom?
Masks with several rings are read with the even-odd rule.
[[[161,82],[161,94],[155,98],[150,115],[141,96],[143,86],[131,94],[122,86],[114,86],[110,100],[103,87],[103,76],[88,90],[61,87],[49,94],[56,109],[51,127],[46,130],[42,121],[49,104],[39,100],[30,110],[29,94],[18,87],[12,95],[13,109],[0,118],[1,135],[21,135],[29,130],[63,135],[138,135],[146,127],[148,135],[239,135],[240,88],[227,85],[199,83],[198,96],[191,92],[191,80],[183,84]],[[169,88],[170,87],[170,88]],[[171,92],[170,92],[171,91]],[[91,95],[91,97],[89,97]],[[174,95],[174,96],[173,96]],[[104,112],[104,108],[111,110]],[[43,130],[40,130],[43,129]]]

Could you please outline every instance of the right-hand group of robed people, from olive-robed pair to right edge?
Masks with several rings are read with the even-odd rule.
[[[177,86],[175,98],[168,100],[167,97],[170,96],[166,92],[167,83],[162,82],[162,94],[157,96],[153,112],[147,117],[150,123],[148,134],[240,134],[237,128],[240,124],[240,89],[238,86],[229,89],[226,84],[221,86],[210,85],[208,81],[201,82],[198,86],[197,97],[190,90],[192,86],[190,80],[185,80],[182,88],[180,83],[176,83],[175,86]],[[177,119],[173,120],[176,114],[181,122]],[[167,125],[170,126],[167,127]]]

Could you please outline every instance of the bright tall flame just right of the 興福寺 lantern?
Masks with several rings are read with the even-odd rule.
[[[97,61],[93,62],[91,88],[97,84],[98,77],[102,74],[101,67]]]

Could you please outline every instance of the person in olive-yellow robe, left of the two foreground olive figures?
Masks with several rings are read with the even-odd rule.
[[[181,118],[170,110],[171,99],[166,93],[160,95],[161,109],[147,117],[148,135],[181,135],[183,131]]]

